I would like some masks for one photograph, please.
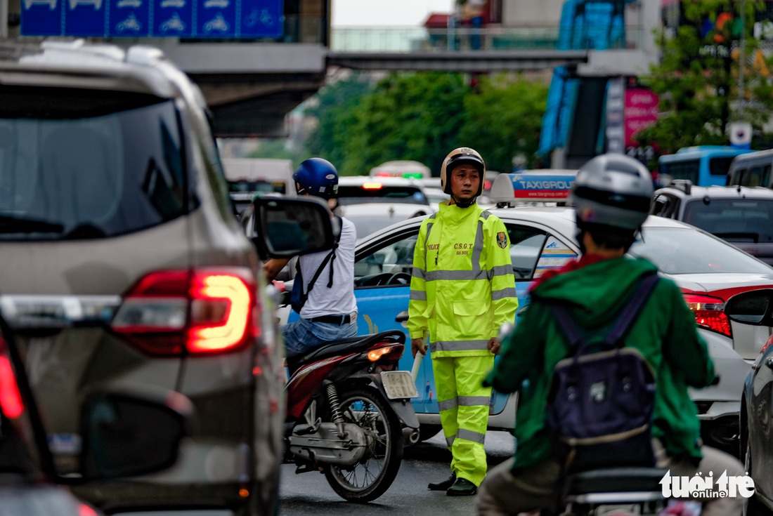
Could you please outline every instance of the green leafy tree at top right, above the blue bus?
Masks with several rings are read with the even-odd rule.
[[[727,145],[730,122],[749,121],[760,129],[768,121],[773,107],[770,80],[748,68],[759,46],[751,37],[759,2],[751,0],[743,24],[746,101],[743,112],[739,110],[740,52],[737,45],[733,48],[742,26],[739,5],[737,0],[684,0],[684,20],[676,33],[659,35],[662,59],[641,79],[659,96],[661,116],[636,134],[641,144],[654,142],[664,153],[691,145]]]

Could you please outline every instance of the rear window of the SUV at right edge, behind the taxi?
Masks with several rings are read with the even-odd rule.
[[[773,242],[773,199],[698,199],[686,204],[684,222],[728,242]]]

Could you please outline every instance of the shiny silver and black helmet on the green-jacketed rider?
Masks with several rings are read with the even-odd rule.
[[[652,176],[624,154],[601,154],[577,172],[570,202],[577,222],[639,229],[652,202]]]

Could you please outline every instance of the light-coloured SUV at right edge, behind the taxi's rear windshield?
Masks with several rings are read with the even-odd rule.
[[[773,265],[773,190],[676,179],[653,199],[650,213],[699,227]]]

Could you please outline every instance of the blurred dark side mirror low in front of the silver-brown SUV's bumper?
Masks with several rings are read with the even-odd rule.
[[[83,480],[134,477],[172,466],[189,434],[191,414],[192,403],[179,392],[91,395],[81,419]]]

